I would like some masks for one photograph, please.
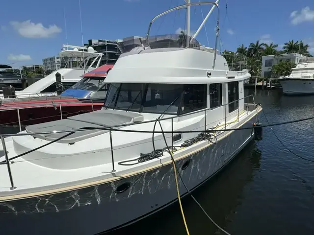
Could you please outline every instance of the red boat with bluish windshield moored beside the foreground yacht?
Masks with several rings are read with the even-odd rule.
[[[82,75],[82,79],[59,96],[46,96],[24,101],[2,102],[0,126],[27,125],[64,119],[78,114],[100,110],[104,105],[107,72],[113,65],[103,65]]]

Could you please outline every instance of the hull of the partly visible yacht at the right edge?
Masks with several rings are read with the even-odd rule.
[[[278,79],[284,94],[314,94],[314,79]]]

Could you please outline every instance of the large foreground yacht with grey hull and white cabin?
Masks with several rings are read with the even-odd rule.
[[[165,13],[200,4],[213,3]],[[216,42],[218,31],[217,21]],[[254,139],[262,108],[244,97],[248,71],[229,71],[216,48],[185,38],[148,31],[140,47],[121,45],[102,110],[2,136],[3,231],[96,234],[125,226],[178,199],[171,156],[193,190]],[[249,129],[225,131],[237,128]],[[13,226],[19,219],[31,226]]]

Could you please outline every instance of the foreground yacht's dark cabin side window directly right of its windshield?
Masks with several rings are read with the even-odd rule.
[[[183,86],[184,94],[180,110],[181,114],[207,108],[206,87],[206,84],[189,84]]]

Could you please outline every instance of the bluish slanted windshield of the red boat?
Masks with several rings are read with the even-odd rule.
[[[84,91],[106,91],[107,84],[104,84],[105,77],[84,77],[69,89]]]

